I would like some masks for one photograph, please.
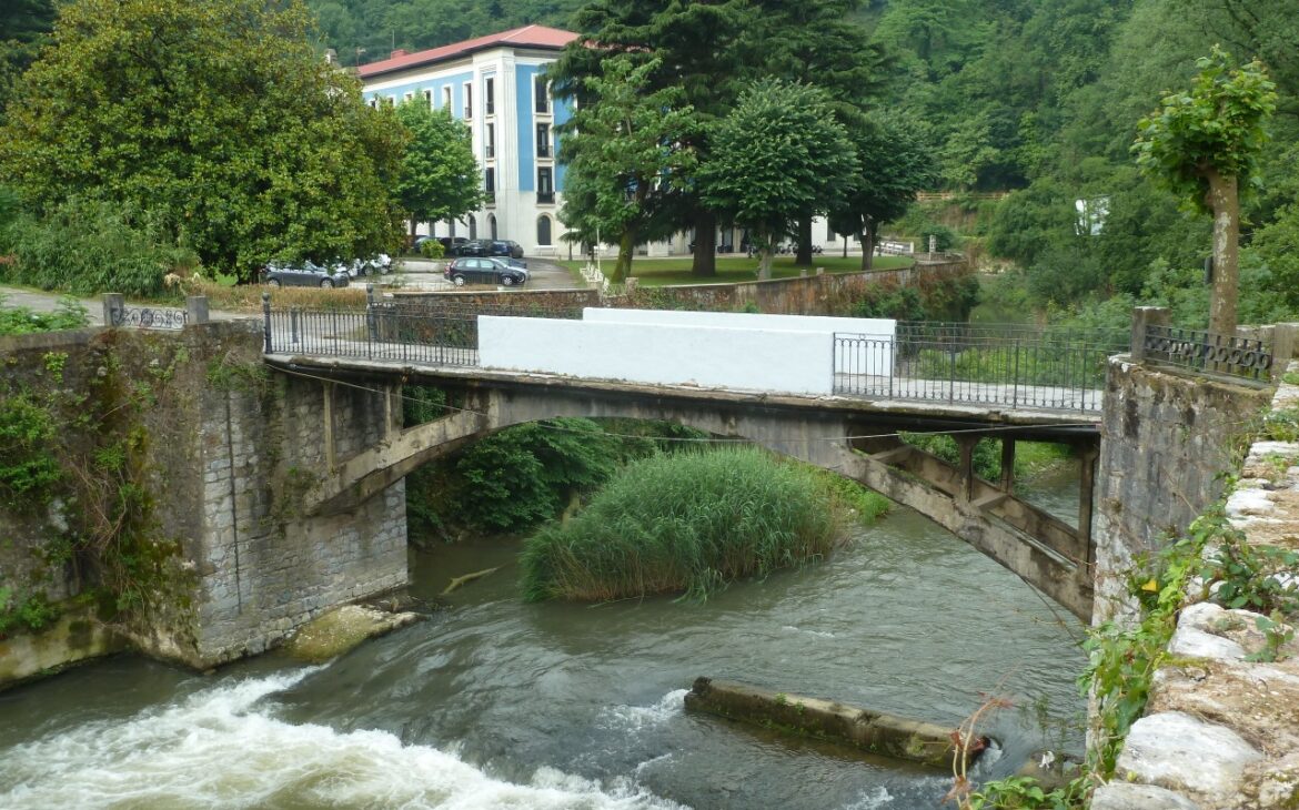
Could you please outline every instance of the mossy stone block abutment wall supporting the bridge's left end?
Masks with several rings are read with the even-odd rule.
[[[330,608],[407,583],[403,482],[346,513],[304,517],[300,509],[303,492],[338,461],[399,427],[394,397],[271,375],[256,322],[6,338],[0,357],[0,399],[86,396],[87,410],[95,397],[131,402],[116,413],[129,419],[117,428],[142,448],[148,517],[140,531],[148,546],[175,549],[156,582],[143,583],[143,604],[99,618],[136,649],[207,669],[274,646]],[[34,570],[42,549],[68,530],[64,511],[57,501],[38,513],[0,506],[0,587],[21,580],[25,592],[57,602],[99,584],[71,562],[39,576]],[[26,676],[5,665],[30,644],[10,641],[0,639],[0,688],[6,672]],[[84,652],[69,649],[65,661]],[[51,661],[43,653],[42,667],[57,666]]]

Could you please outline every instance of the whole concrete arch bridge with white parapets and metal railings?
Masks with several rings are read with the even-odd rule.
[[[891,321],[631,310],[586,310],[581,321],[469,321],[373,309],[364,319],[347,319],[268,308],[264,338],[270,367],[321,383],[329,474],[305,493],[308,515],[355,509],[418,466],[512,424],[556,417],[669,421],[861,482],[930,517],[1074,615],[1091,615],[1092,489],[1105,360],[1099,345],[1052,347],[1017,334],[1017,352],[990,352],[987,335],[969,331],[961,349],[953,348],[952,335],[935,330],[899,340]],[[938,353],[930,344],[943,349],[937,362],[925,357]],[[952,358],[970,347],[985,358],[974,374],[994,382],[916,376],[924,363],[951,370]],[[989,356],[1025,370],[1039,367],[1048,352],[1072,363],[1076,375],[1055,374],[1055,384],[1035,386],[986,367]],[[1082,374],[1089,354],[1090,379]],[[582,375],[582,369],[595,374]],[[339,387],[382,391],[395,402],[408,384],[452,392],[457,410],[426,424],[392,427],[356,452],[335,449]],[[959,462],[905,444],[900,431],[950,434]],[[981,439],[1000,443],[1000,480],[982,480],[973,471]],[[1015,448],[1024,440],[1076,449],[1082,461],[1077,526],[1015,495]]]

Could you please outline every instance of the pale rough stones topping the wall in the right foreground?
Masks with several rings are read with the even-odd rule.
[[[1299,387],[1282,384],[1272,408],[1299,408]],[[1299,443],[1254,443],[1241,475],[1231,524],[1251,544],[1299,550]],[[1264,646],[1256,619],[1208,602],[1182,609],[1146,717],[1092,810],[1299,806],[1299,644],[1276,662],[1247,661]]]

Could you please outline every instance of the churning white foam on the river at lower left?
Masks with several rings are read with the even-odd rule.
[[[0,806],[679,807],[630,779],[601,785],[539,768],[530,784],[512,784],[447,752],[403,745],[383,731],[343,733],[325,726],[294,726],[275,719],[270,707],[255,706],[312,671],[204,689],[126,720],[86,723],[0,750]]]

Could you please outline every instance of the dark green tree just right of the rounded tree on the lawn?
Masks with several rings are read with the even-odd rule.
[[[881,222],[907,213],[916,192],[930,188],[938,173],[924,132],[911,121],[874,116],[848,129],[857,154],[857,173],[843,201],[831,209],[830,225],[861,241],[861,269],[870,269]]]

